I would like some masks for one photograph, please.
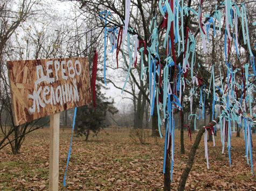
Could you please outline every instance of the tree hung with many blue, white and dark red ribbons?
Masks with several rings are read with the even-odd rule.
[[[172,163],[174,161],[171,159],[174,149],[171,148],[170,145],[174,139],[172,133],[175,128],[173,114],[177,108],[181,108],[179,105],[181,100],[177,99],[178,93],[181,92],[181,90],[177,90],[178,83],[181,83],[181,76],[188,80],[188,83],[186,83],[188,84],[187,89],[190,90],[191,93],[184,94],[184,101],[185,99],[190,101],[192,106],[190,109],[191,115],[198,114],[195,100],[199,100],[199,87],[201,86],[197,83],[197,85],[193,84],[195,84],[195,81],[199,78],[202,78],[203,85],[205,85],[204,94],[207,93],[204,108],[205,111],[206,109],[208,110],[208,113],[212,113],[210,123],[204,127],[212,130],[216,122],[220,121],[220,123],[223,123],[223,117],[228,119],[231,114],[238,116],[239,112],[237,112],[236,108],[236,104],[239,106],[238,103],[240,103],[241,107],[244,107],[244,117],[246,117],[248,108],[250,108],[252,115],[252,103],[255,100],[255,93],[250,92],[248,88],[253,89],[255,80],[253,78],[254,75],[248,77],[248,73],[251,74],[254,72],[255,74],[255,69],[253,70],[255,50],[251,48],[249,42],[250,30],[248,30],[247,24],[252,27],[250,21],[252,19],[247,19],[247,23],[246,17],[248,16],[248,18],[250,18],[251,14],[246,14],[245,5],[247,3],[253,3],[254,1],[243,4],[240,3],[240,1],[236,1],[236,3],[224,1],[223,3],[222,1],[212,0],[204,2],[192,2],[191,0],[188,2],[154,0],[147,2],[141,2],[140,0],[125,1],[125,3],[124,1],[79,2],[81,2],[81,9],[84,11],[85,16],[93,15],[93,18],[91,16],[90,19],[95,20],[97,24],[100,23],[102,30],[104,28],[106,29],[106,27],[122,28],[123,25],[127,27],[127,14],[130,14],[130,21],[128,22],[129,35],[137,35],[140,41],[146,42],[147,51],[145,52],[147,53],[141,56],[148,61],[144,62],[144,66],[148,67],[148,72],[145,74],[147,79],[146,83],[149,86],[147,91],[142,91],[142,87],[140,83],[137,82],[137,78],[133,75],[133,72],[130,72],[130,76],[138,89],[142,91],[143,96],[147,98],[147,92],[149,92],[151,111],[154,111],[154,108],[160,103],[155,95],[160,95],[162,99],[162,109],[165,114],[165,127],[167,127],[165,145],[169,145],[169,147],[165,146],[164,148],[164,190],[170,190],[170,161],[172,161]],[[131,11],[129,10],[129,3],[132,4]],[[107,9],[111,11],[112,19],[110,20],[110,17],[106,15],[105,19],[99,19],[102,18],[100,12]],[[243,17],[239,16],[239,9],[243,12]],[[247,12],[253,12],[253,9],[252,6],[251,10],[247,9]],[[234,17],[234,13],[237,13],[236,17]],[[246,16],[244,16],[244,14],[246,14]],[[224,15],[226,17],[225,20],[223,20]],[[124,23],[125,19],[126,22]],[[238,24],[238,26],[233,27],[233,23],[236,23],[236,26]],[[246,26],[244,23],[246,23]],[[239,28],[239,31],[237,31],[237,28]],[[103,34],[101,36],[103,37]],[[234,36],[236,36],[236,38]],[[213,40],[213,38],[215,38],[215,40]],[[234,44],[234,39],[236,39],[236,44]],[[127,42],[129,42],[129,40],[127,40]],[[224,49],[223,46],[225,46]],[[126,47],[128,47],[128,50],[130,49],[129,44]],[[141,48],[141,46],[139,48]],[[232,63],[234,57],[237,55],[239,57],[239,64],[234,65]],[[123,57],[124,60],[126,60],[126,56]],[[209,59],[209,57],[211,59]],[[195,62],[197,58],[199,58],[200,63]],[[252,63],[250,69],[248,68],[249,64],[244,64],[244,66],[241,67],[243,63],[250,61]],[[125,64],[128,68],[131,61],[129,64],[126,62]],[[159,70],[161,67],[162,69]],[[189,73],[191,71],[191,76],[188,75],[188,71]],[[164,85],[160,82],[162,73],[164,73]],[[153,74],[154,78],[152,77]],[[233,74],[236,74],[235,78]],[[239,86],[239,82],[243,82],[244,85]],[[236,94],[233,93],[234,89],[236,89]],[[243,96],[241,92],[244,92],[244,97],[242,98],[239,97],[239,95]],[[189,99],[189,97],[193,99]],[[165,101],[168,101],[168,106]],[[250,101],[250,106],[248,106],[248,101]],[[198,102],[199,101],[197,101],[197,103]],[[217,109],[217,105],[219,109]],[[156,113],[157,112],[154,112],[154,115]],[[215,116],[220,117],[215,119]],[[158,118],[161,117],[158,116]],[[190,118],[195,120],[194,117]],[[155,117],[152,117],[152,119],[155,119]],[[214,119],[216,122],[212,121]],[[160,122],[160,120],[158,120],[158,122]],[[225,126],[227,125],[225,124]],[[230,128],[230,124],[228,124],[228,126]],[[200,127],[197,139],[189,155],[188,165],[181,178],[179,190],[184,189],[184,182],[192,167],[193,158],[195,157],[196,149],[203,133],[204,128]]]

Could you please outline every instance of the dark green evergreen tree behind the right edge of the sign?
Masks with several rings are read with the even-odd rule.
[[[100,93],[100,85],[97,85],[96,91],[96,107],[92,104],[78,107],[77,117],[75,118],[75,126],[77,126],[77,135],[85,136],[88,140],[90,131],[97,135],[99,131],[105,128],[107,113],[115,114],[117,109],[113,106],[113,100],[108,101],[105,94]]]

